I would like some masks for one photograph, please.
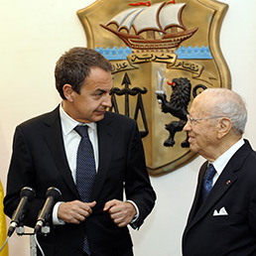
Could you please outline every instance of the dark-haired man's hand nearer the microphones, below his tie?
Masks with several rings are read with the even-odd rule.
[[[80,200],[67,201],[60,204],[58,217],[66,223],[79,224],[84,221],[91,213],[96,201],[82,202]]]

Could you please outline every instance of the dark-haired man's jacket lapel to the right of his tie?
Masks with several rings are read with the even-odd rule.
[[[100,193],[109,170],[115,134],[114,129],[110,126],[111,122],[112,119],[105,113],[104,119],[97,123],[99,165],[91,200],[95,200]]]

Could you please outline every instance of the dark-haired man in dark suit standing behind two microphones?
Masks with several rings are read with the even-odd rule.
[[[111,67],[93,50],[69,50],[55,70],[62,104],[16,128],[4,210],[11,217],[20,191],[32,187],[36,197],[28,204],[24,224],[35,227],[47,190],[62,192],[50,218],[50,234],[38,234],[48,256],[131,256],[127,225],[139,228],[154,206],[136,121],[106,111],[111,106]],[[75,180],[81,136],[74,129],[85,124],[96,173],[88,201],[82,201]]]

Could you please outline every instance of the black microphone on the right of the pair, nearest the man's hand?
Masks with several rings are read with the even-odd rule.
[[[62,195],[62,192],[60,192],[55,187],[51,187],[47,190],[47,193],[46,193],[47,200],[45,202],[43,209],[40,212],[40,215],[37,219],[37,224],[35,226],[36,234],[41,230],[42,226],[46,224],[46,222],[50,218],[56,199],[58,199],[61,195]]]

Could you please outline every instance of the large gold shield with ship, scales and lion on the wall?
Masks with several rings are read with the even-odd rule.
[[[231,88],[219,47],[227,9],[215,0],[97,0],[77,11],[87,47],[113,67],[109,111],[137,121],[151,176],[197,156],[183,131],[193,98],[208,87]]]

